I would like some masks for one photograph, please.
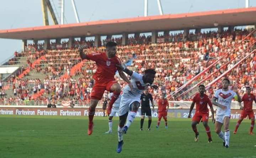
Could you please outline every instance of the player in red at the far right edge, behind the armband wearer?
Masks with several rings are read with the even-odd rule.
[[[253,101],[256,103],[256,98],[253,94],[251,94],[251,88],[246,87],[246,94],[242,97],[242,100],[241,100],[241,102],[244,102],[244,107],[242,107],[241,103],[239,103],[239,106],[242,108],[242,111],[241,111],[240,118],[239,118],[238,122],[236,123],[236,127],[233,132],[234,134],[236,134],[236,131],[237,131],[239,125],[241,124],[242,120],[244,120],[244,118],[246,118],[247,115],[251,119],[251,128],[250,128],[249,134],[250,135],[254,134],[252,132],[252,130],[254,128],[254,123],[255,123],[254,111],[252,110],[252,102]]]

